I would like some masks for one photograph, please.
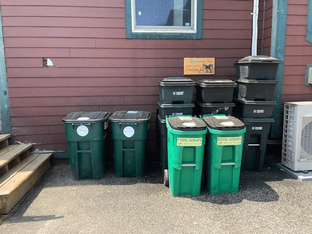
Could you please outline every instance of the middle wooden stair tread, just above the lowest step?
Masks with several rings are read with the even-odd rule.
[[[8,164],[20,154],[29,150],[31,147],[32,144],[9,145],[6,148],[0,150],[0,168]]]

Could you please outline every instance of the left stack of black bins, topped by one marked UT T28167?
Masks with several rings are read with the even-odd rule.
[[[157,135],[161,172],[168,169],[166,116],[193,115],[195,82],[184,77],[164,78],[158,82]]]

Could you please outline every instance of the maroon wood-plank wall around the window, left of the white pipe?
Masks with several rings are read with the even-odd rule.
[[[126,39],[125,1],[1,0],[14,139],[67,151],[62,118],[77,111],[153,113],[157,82],[183,76],[183,58],[215,58],[215,76],[234,78],[251,54],[253,0],[204,0],[203,39]],[[43,67],[42,58],[54,67]]]

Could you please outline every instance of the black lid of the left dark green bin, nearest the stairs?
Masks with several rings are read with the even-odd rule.
[[[105,122],[111,115],[109,112],[73,112],[63,118],[63,122]]]

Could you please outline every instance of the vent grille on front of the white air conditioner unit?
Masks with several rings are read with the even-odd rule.
[[[302,117],[300,160],[312,160],[312,116]]]

